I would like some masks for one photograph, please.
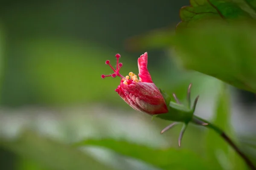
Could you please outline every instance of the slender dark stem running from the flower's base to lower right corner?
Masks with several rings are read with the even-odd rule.
[[[226,135],[226,133],[224,133],[223,130],[221,130],[217,126],[213,125],[212,123],[210,123],[198,116],[195,116],[195,118],[201,120],[202,122],[207,123],[207,125],[204,125],[205,127],[208,127],[210,129],[214,130],[216,133],[218,133],[231,147],[233,147],[234,150],[236,150],[236,152],[241,156],[242,159],[244,159],[247,166],[250,167],[251,170],[256,170],[256,167],[252,163],[252,161],[250,161],[250,159],[239,149],[239,147],[236,146],[236,144],[230,139],[229,136]]]

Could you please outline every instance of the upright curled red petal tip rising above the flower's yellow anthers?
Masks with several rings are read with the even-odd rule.
[[[148,72],[148,53],[145,52],[138,58],[140,82],[153,82]]]

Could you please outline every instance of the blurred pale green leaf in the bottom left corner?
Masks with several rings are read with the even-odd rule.
[[[42,168],[54,170],[113,170],[66,144],[54,142],[31,131],[13,141],[0,140],[3,147],[24,159],[35,161]]]

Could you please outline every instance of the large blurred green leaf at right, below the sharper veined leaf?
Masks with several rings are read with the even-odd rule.
[[[176,58],[187,69],[256,93],[256,26],[211,22],[176,35]]]

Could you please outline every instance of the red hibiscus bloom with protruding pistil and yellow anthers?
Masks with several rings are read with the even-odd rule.
[[[122,67],[122,63],[119,63],[120,57],[119,54],[116,54],[116,68],[113,68],[109,60],[105,62],[114,73],[110,75],[103,74],[101,77],[103,79],[105,77],[121,77],[120,85],[118,85],[115,91],[135,110],[151,115],[167,113],[168,109],[163,95],[153,83],[148,72],[148,54],[145,52],[138,59],[139,77],[133,72],[130,72],[125,77],[120,74],[120,68]]]

